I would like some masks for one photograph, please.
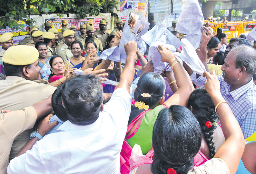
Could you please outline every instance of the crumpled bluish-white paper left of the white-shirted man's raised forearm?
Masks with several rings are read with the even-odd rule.
[[[101,55],[98,57],[98,59],[109,59],[115,62],[120,62],[120,50],[118,46],[114,46],[112,48],[105,49]]]

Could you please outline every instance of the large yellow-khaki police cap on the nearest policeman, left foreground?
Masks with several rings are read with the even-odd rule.
[[[30,65],[39,57],[38,50],[33,46],[17,45],[5,51],[2,61],[11,65]]]

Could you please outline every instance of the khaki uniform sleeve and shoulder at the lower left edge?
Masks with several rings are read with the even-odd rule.
[[[9,154],[17,135],[33,128],[36,121],[36,111],[33,106],[0,114],[0,173],[6,173],[9,164]]]

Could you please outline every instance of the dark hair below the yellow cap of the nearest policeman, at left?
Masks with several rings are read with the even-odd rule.
[[[6,76],[21,76],[23,74],[23,68],[27,66],[28,68],[31,68],[30,65],[11,65],[4,63],[4,70]]]

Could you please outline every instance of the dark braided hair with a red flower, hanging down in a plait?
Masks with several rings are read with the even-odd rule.
[[[215,106],[212,98],[204,88],[198,88],[192,92],[187,104],[188,109],[191,109],[191,107],[192,113],[195,115],[197,121],[199,122],[202,134],[204,135],[209,147],[210,157],[213,158],[216,153],[215,144],[213,141],[213,133],[214,129],[217,128],[217,126],[214,126],[213,123],[216,122],[218,124],[219,116],[214,110]],[[210,128],[205,126],[207,121],[212,123]]]

